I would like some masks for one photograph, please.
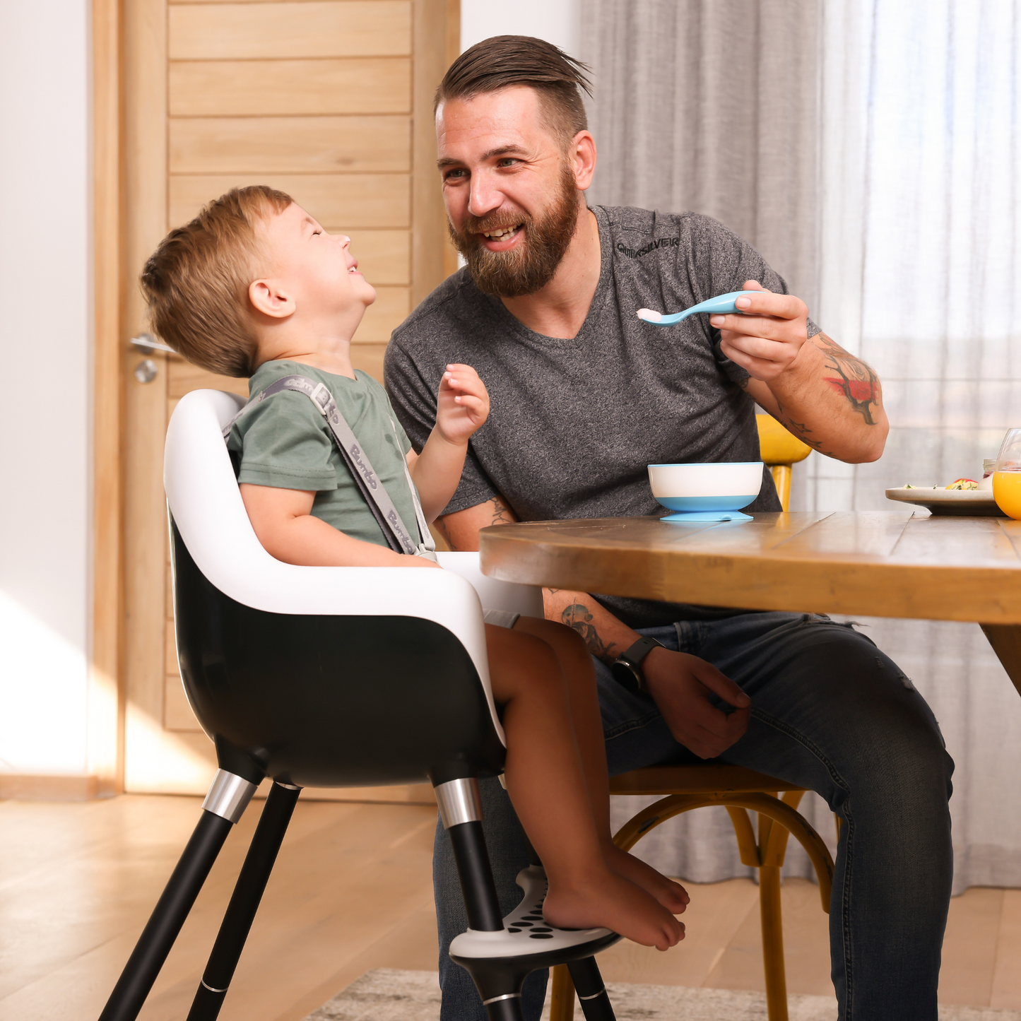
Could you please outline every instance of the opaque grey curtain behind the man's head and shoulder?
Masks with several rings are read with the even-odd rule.
[[[819,0],[587,0],[589,201],[693,209],[815,306]]]

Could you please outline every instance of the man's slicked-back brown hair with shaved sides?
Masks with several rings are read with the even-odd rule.
[[[539,93],[547,127],[566,146],[588,129],[579,89],[592,88],[580,60],[568,56],[544,39],[531,36],[493,36],[476,43],[452,64],[436,90],[433,111],[451,99],[472,99],[512,85],[527,85]]]

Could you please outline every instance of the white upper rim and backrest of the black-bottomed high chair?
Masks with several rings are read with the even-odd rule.
[[[220,390],[192,390],[174,409],[166,430],[163,488],[167,505],[204,577],[237,602],[273,614],[418,617],[439,624],[457,637],[472,658],[502,739],[489,684],[482,604],[461,572],[296,567],[275,560],[262,548],[248,520],[221,432],[243,403],[240,397]]]

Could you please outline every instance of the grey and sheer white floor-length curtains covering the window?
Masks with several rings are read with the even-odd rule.
[[[590,0],[582,16],[591,201],[722,220],[883,381],[884,456],[813,453],[792,508],[889,510],[888,487],[980,477],[1021,426],[1021,4]],[[957,762],[955,891],[1021,886],[1021,699],[1003,668],[975,625],[864,623]],[[804,811],[832,846],[825,806]],[[749,872],[722,810],[644,847],[696,881]]]

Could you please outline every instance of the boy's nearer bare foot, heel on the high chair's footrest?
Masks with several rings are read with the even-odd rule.
[[[684,926],[666,908],[610,870],[594,881],[550,883],[542,915],[560,929],[602,926],[660,951],[684,938]]]

